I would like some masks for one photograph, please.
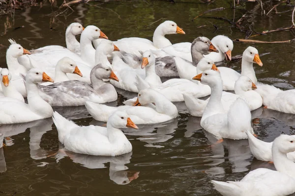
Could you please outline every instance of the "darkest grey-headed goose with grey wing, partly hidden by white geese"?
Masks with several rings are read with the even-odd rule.
[[[180,78],[185,78],[182,75],[187,74],[187,72],[189,73],[190,70],[186,70],[186,69],[179,70],[177,67],[177,64],[180,68],[188,67],[188,69],[194,69],[194,71],[196,71],[196,68],[191,68],[191,67],[193,66],[196,67],[199,61],[202,58],[204,58],[203,54],[209,54],[210,52],[218,52],[218,50],[211,44],[210,40],[207,37],[197,37],[192,42],[191,47],[189,48],[189,54],[190,56],[192,56],[192,63],[191,61],[187,61],[180,57],[174,57],[174,56],[158,57],[156,58],[156,64],[155,64],[156,73],[159,76],[178,76],[179,75]],[[154,55],[156,55],[155,51],[153,51],[153,53]]]

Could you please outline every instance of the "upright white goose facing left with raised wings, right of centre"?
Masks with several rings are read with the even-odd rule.
[[[237,98],[228,112],[224,110],[221,102],[222,80],[219,72],[206,70],[195,76],[203,84],[211,88],[211,96],[204,110],[201,126],[217,139],[246,139],[246,130],[251,127],[251,113],[247,103],[242,98]],[[240,112],[243,111],[243,112]]]

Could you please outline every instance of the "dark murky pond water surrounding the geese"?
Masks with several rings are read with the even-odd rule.
[[[16,10],[14,15],[0,16],[0,43],[4,45],[0,47],[0,67],[6,67],[5,51],[9,38],[27,49],[46,45],[65,46],[64,32],[73,21],[84,26],[97,25],[111,40],[132,36],[151,39],[160,22],[149,24],[161,18],[161,22],[175,21],[186,32],[186,35],[167,36],[172,43],[191,42],[200,35],[210,39],[217,34],[225,34],[232,39],[244,38],[245,33],[227,22],[201,17],[191,22],[191,19],[208,9],[225,7],[223,11],[204,16],[232,20],[235,14],[237,21],[245,11],[237,9],[234,13],[226,1],[208,5],[199,2],[93,2],[73,6],[73,13],[68,9],[61,14],[61,11],[48,5]],[[240,8],[258,10],[248,14],[257,32],[292,24],[292,12],[261,16],[257,3],[245,3]],[[284,5],[277,8],[279,12],[292,9]],[[268,12],[269,9],[265,9]],[[216,31],[212,24],[219,29]],[[24,27],[14,29],[20,26]],[[279,31],[255,39],[278,41],[293,38],[291,32]],[[256,47],[260,53],[271,52],[261,57],[263,67],[254,66],[258,80],[283,89],[294,88],[294,44],[235,42],[234,46],[233,55],[241,54],[248,46]],[[228,62],[226,66],[238,71],[240,61]],[[112,105],[120,105],[123,100],[135,95],[123,91],[118,93],[118,101]],[[188,115],[183,102],[176,104],[179,110],[177,119],[141,125],[138,131],[124,130],[133,151],[115,158],[66,151],[59,145],[58,132],[51,119],[0,126],[0,132],[7,136],[7,146],[0,148],[0,195],[218,196],[209,180],[239,180],[256,168],[274,169],[271,164],[253,159],[247,140],[225,140],[211,147],[214,139],[202,130],[201,119]],[[104,124],[90,118],[84,106],[55,109],[80,125]],[[270,142],[281,133],[294,134],[294,115],[263,108],[252,113],[253,119],[258,118],[253,121],[253,128],[259,139]]]

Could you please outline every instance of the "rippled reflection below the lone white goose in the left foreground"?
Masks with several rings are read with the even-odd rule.
[[[132,180],[139,177],[139,172],[127,171],[126,164],[130,163],[132,152],[120,156],[92,156],[79,154],[66,150],[59,144],[59,151],[56,155],[57,163],[64,157],[69,157],[74,163],[79,163],[89,169],[106,168],[105,164],[110,163],[109,176],[112,181],[119,185],[129,184]]]

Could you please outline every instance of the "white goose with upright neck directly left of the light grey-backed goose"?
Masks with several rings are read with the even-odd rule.
[[[40,69],[31,69],[26,75],[28,104],[14,98],[0,99],[0,124],[26,123],[49,118],[53,114],[52,107],[43,100],[37,84],[53,80]]]

